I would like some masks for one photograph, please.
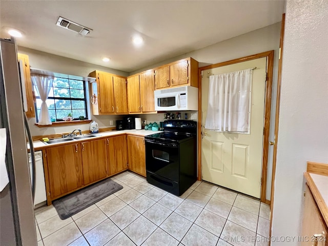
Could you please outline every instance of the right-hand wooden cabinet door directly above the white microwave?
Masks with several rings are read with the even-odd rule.
[[[188,84],[188,61],[183,60],[170,66],[171,86]]]

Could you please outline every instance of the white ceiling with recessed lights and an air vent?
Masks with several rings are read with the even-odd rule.
[[[1,37],[19,46],[126,72],[280,22],[283,1],[0,1]],[[93,31],[56,26],[59,16]],[[131,38],[145,39],[134,47]],[[109,56],[105,63],[101,57]]]

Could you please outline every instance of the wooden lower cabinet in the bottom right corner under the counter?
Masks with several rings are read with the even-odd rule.
[[[328,245],[328,230],[309,187],[305,186],[301,246]],[[317,242],[316,242],[317,238]]]

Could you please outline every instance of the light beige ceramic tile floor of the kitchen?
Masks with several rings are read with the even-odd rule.
[[[66,220],[37,209],[38,246],[269,244],[270,207],[256,199],[200,181],[177,197],[129,171],[112,179],[124,189]]]

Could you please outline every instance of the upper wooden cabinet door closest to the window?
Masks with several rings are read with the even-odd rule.
[[[101,114],[114,113],[113,76],[98,72],[98,104]]]

